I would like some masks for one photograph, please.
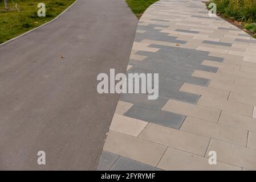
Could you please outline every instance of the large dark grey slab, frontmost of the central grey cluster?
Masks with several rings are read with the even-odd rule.
[[[170,113],[159,109],[146,108],[139,105],[133,105],[124,115],[176,129],[180,128],[185,119],[184,115]]]

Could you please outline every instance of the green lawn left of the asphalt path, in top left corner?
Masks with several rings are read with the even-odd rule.
[[[0,2],[0,43],[6,42],[15,36],[21,35],[54,19],[63,10],[67,9],[75,0],[13,0],[17,3],[20,13],[11,1],[9,10],[4,10],[3,1]],[[46,17],[38,17],[38,3],[46,5]]]

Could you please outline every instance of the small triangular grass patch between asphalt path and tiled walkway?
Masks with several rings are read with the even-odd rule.
[[[126,0],[128,6],[138,19],[142,16],[145,10],[153,3],[159,0]]]

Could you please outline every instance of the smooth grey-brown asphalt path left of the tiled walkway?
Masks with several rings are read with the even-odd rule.
[[[96,77],[126,71],[136,26],[124,1],[78,0],[0,46],[0,169],[96,169],[119,98]]]

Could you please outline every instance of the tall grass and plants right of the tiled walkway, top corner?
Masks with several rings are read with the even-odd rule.
[[[256,37],[256,0],[211,0],[210,2],[216,3],[217,12],[221,16],[240,22]]]

